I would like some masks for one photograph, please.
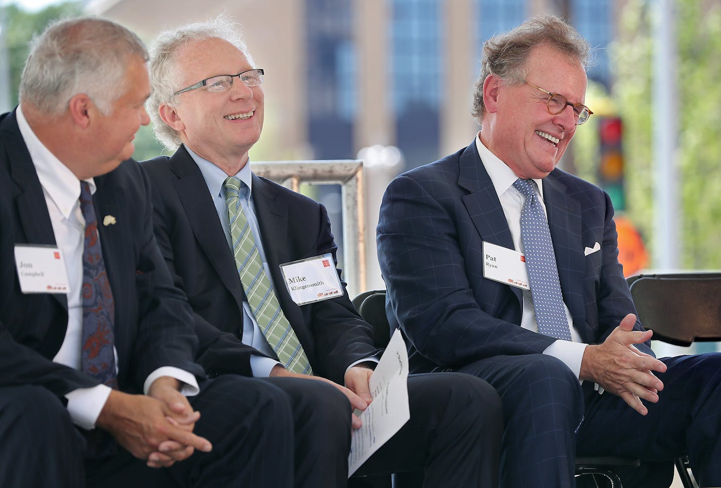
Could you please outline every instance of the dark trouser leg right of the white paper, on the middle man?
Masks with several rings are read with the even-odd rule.
[[[490,385],[454,372],[410,375],[408,401],[410,420],[358,474],[420,472],[423,488],[497,486],[503,417]]]

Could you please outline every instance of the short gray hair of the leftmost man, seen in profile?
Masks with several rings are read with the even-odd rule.
[[[115,22],[96,17],[61,19],[32,40],[20,78],[20,101],[60,116],[78,93],[110,115],[127,87],[128,58],[148,61],[143,41]]]

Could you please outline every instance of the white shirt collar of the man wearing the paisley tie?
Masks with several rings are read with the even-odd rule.
[[[80,180],[37,138],[22,113],[22,105],[18,106],[16,114],[17,126],[20,129],[20,134],[22,134],[22,139],[25,140],[30,159],[35,165],[35,172],[37,173],[37,179],[40,180],[40,185],[43,186],[45,193],[58,206],[58,210],[63,214],[63,217],[70,218],[70,214],[80,198]],[[89,183],[90,193],[94,194],[96,187],[93,178],[88,178],[85,181]]]

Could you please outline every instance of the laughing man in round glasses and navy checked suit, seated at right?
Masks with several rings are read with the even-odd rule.
[[[485,43],[476,138],[384,195],[389,321],[412,371],[452,368],[500,393],[503,487],[575,486],[576,454],[658,462],[629,469],[647,487],[668,486],[688,454],[702,486],[720,486],[720,357],[655,359],[609,196],[556,168],[593,113],[588,51],[552,16]]]

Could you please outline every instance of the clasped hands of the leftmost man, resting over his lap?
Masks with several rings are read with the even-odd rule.
[[[155,380],[147,395],[113,390],[96,426],[110,432],[136,458],[146,459],[151,468],[172,466],[195,449],[210,452],[211,443],[193,434],[200,412],[179,390],[180,382],[168,376]]]

